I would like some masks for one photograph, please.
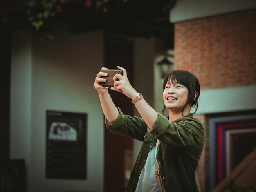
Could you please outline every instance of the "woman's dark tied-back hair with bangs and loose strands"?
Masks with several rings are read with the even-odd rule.
[[[191,109],[195,109],[193,113],[195,113],[198,109],[198,98],[200,95],[200,84],[195,75],[191,74],[189,71],[184,70],[173,70],[169,72],[164,78],[163,91],[165,89],[166,83],[171,79],[171,83],[180,83],[184,85],[187,89],[189,89],[189,96],[186,105],[182,109],[182,115],[185,107],[188,105]],[[198,93],[197,97],[195,97],[195,92]],[[166,107],[162,111],[164,114]]]

